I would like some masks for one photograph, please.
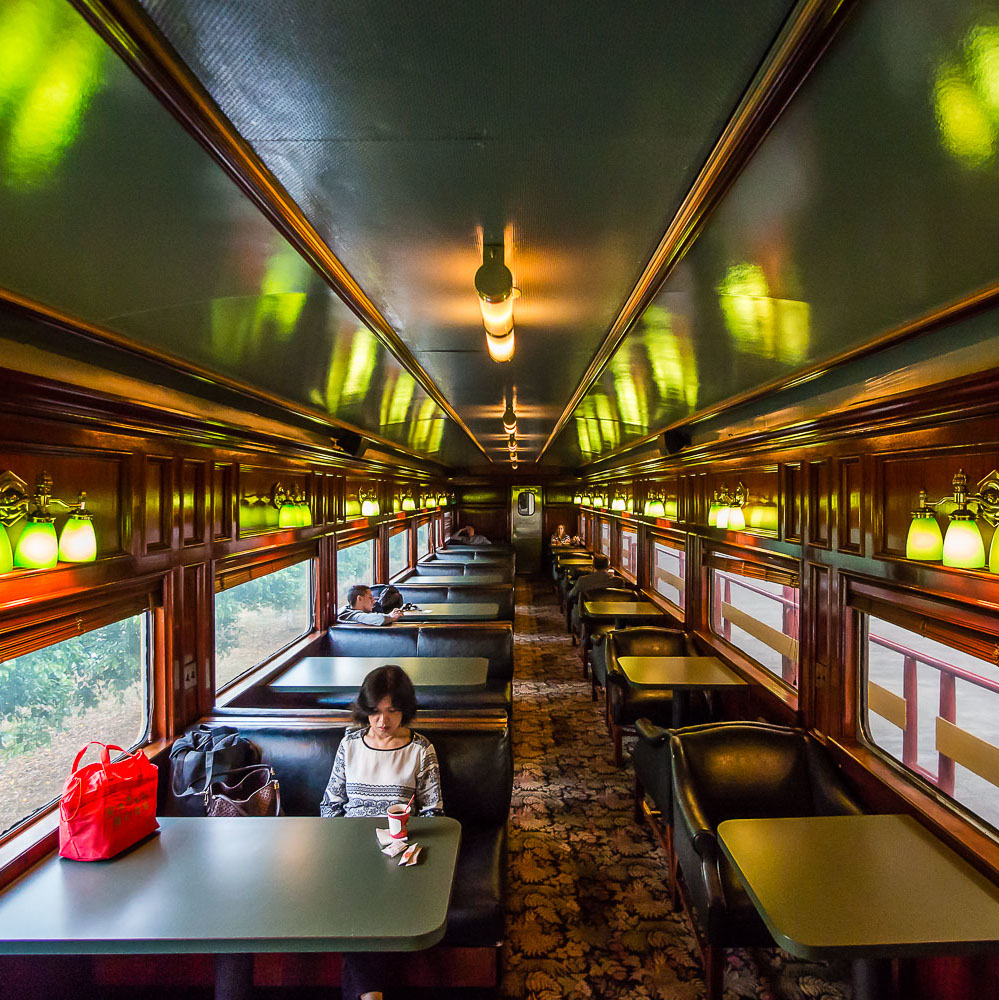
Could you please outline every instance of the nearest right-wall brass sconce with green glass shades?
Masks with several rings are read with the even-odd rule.
[[[993,528],[999,525],[999,472],[993,469],[979,482],[976,493],[968,492],[968,477],[963,469],[957,470],[951,485],[953,495],[940,500],[928,500],[926,491],[919,491],[919,507],[912,512],[905,540],[906,558],[942,560],[944,566],[981,569],[985,565],[985,543],[976,518],[980,517]],[[956,504],[956,507],[947,515],[950,518],[947,533],[941,536],[934,508],[945,503]],[[997,538],[999,529],[993,533],[989,549],[989,569],[993,573],[999,573]]]

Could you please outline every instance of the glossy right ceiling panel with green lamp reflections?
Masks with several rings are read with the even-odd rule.
[[[996,279],[999,15],[858,5],[545,459],[587,462]]]

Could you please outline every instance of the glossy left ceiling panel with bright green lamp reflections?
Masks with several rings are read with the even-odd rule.
[[[69,4],[4,4],[0,52],[0,286],[438,461],[475,459]]]

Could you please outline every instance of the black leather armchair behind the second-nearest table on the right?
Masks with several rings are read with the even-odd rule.
[[[697,656],[693,639],[680,629],[658,625],[636,625],[613,629],[604,637],[604,657],[593,659],[593,683],[602,683],[607,691],[607,723],[614,741],[614,763],[620,767],[621,736],[625,726],[646,718],[662,726],[672,722],[673,692],[656,688],[636,688],[628,683],[618,659],[622,656]],[[600,671],[606,666],[603,676]],[[703,700],[703,699],[699,699]],[[706,712],[698,718],[684,719],[685,724],[706,722]]]

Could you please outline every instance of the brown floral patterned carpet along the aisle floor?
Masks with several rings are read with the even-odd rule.
[[[631,737],[634,739],[634,737]],[[542,578],[519,580],[504,997],[703,997],[700,959]],[[731,951],[725,998],[845,1000],[846,969]]]

